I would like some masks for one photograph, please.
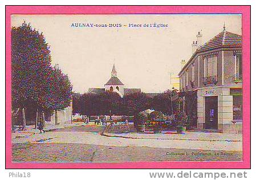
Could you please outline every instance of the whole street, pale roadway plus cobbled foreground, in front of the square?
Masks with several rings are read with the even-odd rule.
[[[73,126],[44,134],[14,138],[13,162],[242,160],[242,151],[237,150],[242,142],[227,144],[210,141],[105,137],[100,134],[102,128],[103,126],[94,125]],[[191,149],[190,147],[198,148]],[[218,150],[213,150],[214,148]],[[224,150],[225,148],[229,151]]]

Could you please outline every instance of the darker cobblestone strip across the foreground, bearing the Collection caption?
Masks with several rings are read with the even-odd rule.
[[[125,161],[242,161],[242,152],[63,143],[13,144],[13,162]]]

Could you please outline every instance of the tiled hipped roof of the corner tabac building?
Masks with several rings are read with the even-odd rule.
[[[221,46],[242,46],[242,36],[224,30],[202,45],[198,50],[212,50]]]

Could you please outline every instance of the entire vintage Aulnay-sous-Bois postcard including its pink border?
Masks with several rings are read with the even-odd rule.
[[[35,7],[6,7],[7,168],[250,167],[249,6]]]

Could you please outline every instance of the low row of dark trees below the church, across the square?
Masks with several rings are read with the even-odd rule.
[[[151,108],[170,115],[179,109],[177,93],[176,90],[167,90],[157,96],[149,97],[146,93],[135,92],[123,98],[116,92],[110,91],[99,94],[75,94],[73,96],[73,114],[92,116],[109,114],[111,111],[112,114],[136,116],[137,113]]]

